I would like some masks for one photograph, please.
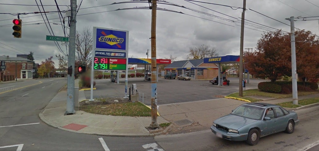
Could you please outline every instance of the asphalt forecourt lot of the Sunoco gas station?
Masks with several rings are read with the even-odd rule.
[[[239,91],[239,78],[229,77],[229,86],[218,86],[209,83],[209,80],[183,81],[177,79],[164,79],[159,77],[157,83],[158,104],[180,103],[199,101],[224,97]],[[247,80],[247,79],[246,79]],[[124,97],[125,78],[120,78],[119,84],[112,83],[110,79],[95,79],[96,90],[93,90],[93,98],[115,98]],[[257,89],[259,82],[266,80],[250,79],[246,84],[246,90]],[[151,81],[145,81],[143,77],[128,78],[128,91],[131,84],[137,85],[137,92],[144,94],[144,103],[151,104]],[[90,91],[85,91],[86,99],[90,99]]]

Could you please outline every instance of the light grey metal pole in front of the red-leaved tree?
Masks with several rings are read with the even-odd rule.
[[[293,17],[290,17],[290,30],[291,30],[291,74],[293,82],[293,104],[298,104],[298,91],[297,91],[297,67],[296,67],[296,46],[295,46],[295,26]]]

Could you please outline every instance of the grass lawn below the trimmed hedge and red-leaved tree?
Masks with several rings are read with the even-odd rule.
[[[303,96],[303,95],[309,95],[309,94],[315,94],[318,93],[317,91],[314,92],[298,92],[298,96]],[[247,97],[247,96],[264,96],[264,97],[275,97],[275,98],[286,98],[286,97],[293,97],[293,94],[278,94],[278,93],[268,93],[268,92],[263,92],[260,91],[258,89],[251,89],[251,90],[245,90],[242,93],[243,97],[239,97],[238,96],[239,93],[233,93],[228,95],[227,97],[237,97],[237,98],[242,98],[242,99],[246,99],[249,100],[250,102],[258,102],[258,101],[262,101],[260,99],[255,99],[255,98],[251,98],[251,97]]]

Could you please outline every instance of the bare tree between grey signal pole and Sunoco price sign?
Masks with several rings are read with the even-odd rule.
[[[91,28],[85,27],[81,33],[77,32],[75,37],[76,62],[90,68],[92,63],[92,35]]]

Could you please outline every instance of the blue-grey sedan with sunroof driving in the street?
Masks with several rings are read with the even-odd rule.
[[[247,103],[232,113],[213,122],[211,131],[226,140],[243,141],[256,145],[260,137],[285,131],[293,133],[299,123],[294,111],[267,103]]]

